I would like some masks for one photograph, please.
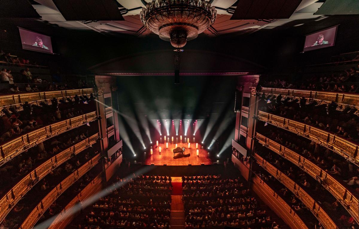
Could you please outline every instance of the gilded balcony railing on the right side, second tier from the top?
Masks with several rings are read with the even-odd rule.
[[[324,130],[300,123],[298,121],[286,119],[281,116],[272,115],[264,111],[258,111],[257,118],[275,125],[276,127],[289,130],[293,133],[309,138],[314,142],[320,143],[356,165],[359,165],[358,144],[350,142],[349,140],[339,136],[335,136],[334,134],[328,133]]]

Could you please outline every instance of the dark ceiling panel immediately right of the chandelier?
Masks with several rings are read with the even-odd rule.
[[[240,0],[231,20],[289,18],[301,0]]]

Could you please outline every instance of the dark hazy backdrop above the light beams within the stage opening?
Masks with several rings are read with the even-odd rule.
[[[205,119],[224,110],[233,113],[237,77],[234,76],[119,76],[120,112],[147,114],[149,119]]]

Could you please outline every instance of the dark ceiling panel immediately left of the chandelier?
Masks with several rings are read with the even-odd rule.
[[[53,0],[68,21],[121,21],[115,0]]]

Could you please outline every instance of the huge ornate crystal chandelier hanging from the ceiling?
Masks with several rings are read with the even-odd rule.
[[[195,39],[216,16],[215,7],[204,0],[153,0],[140,13],[143,25],[175,48]]]

